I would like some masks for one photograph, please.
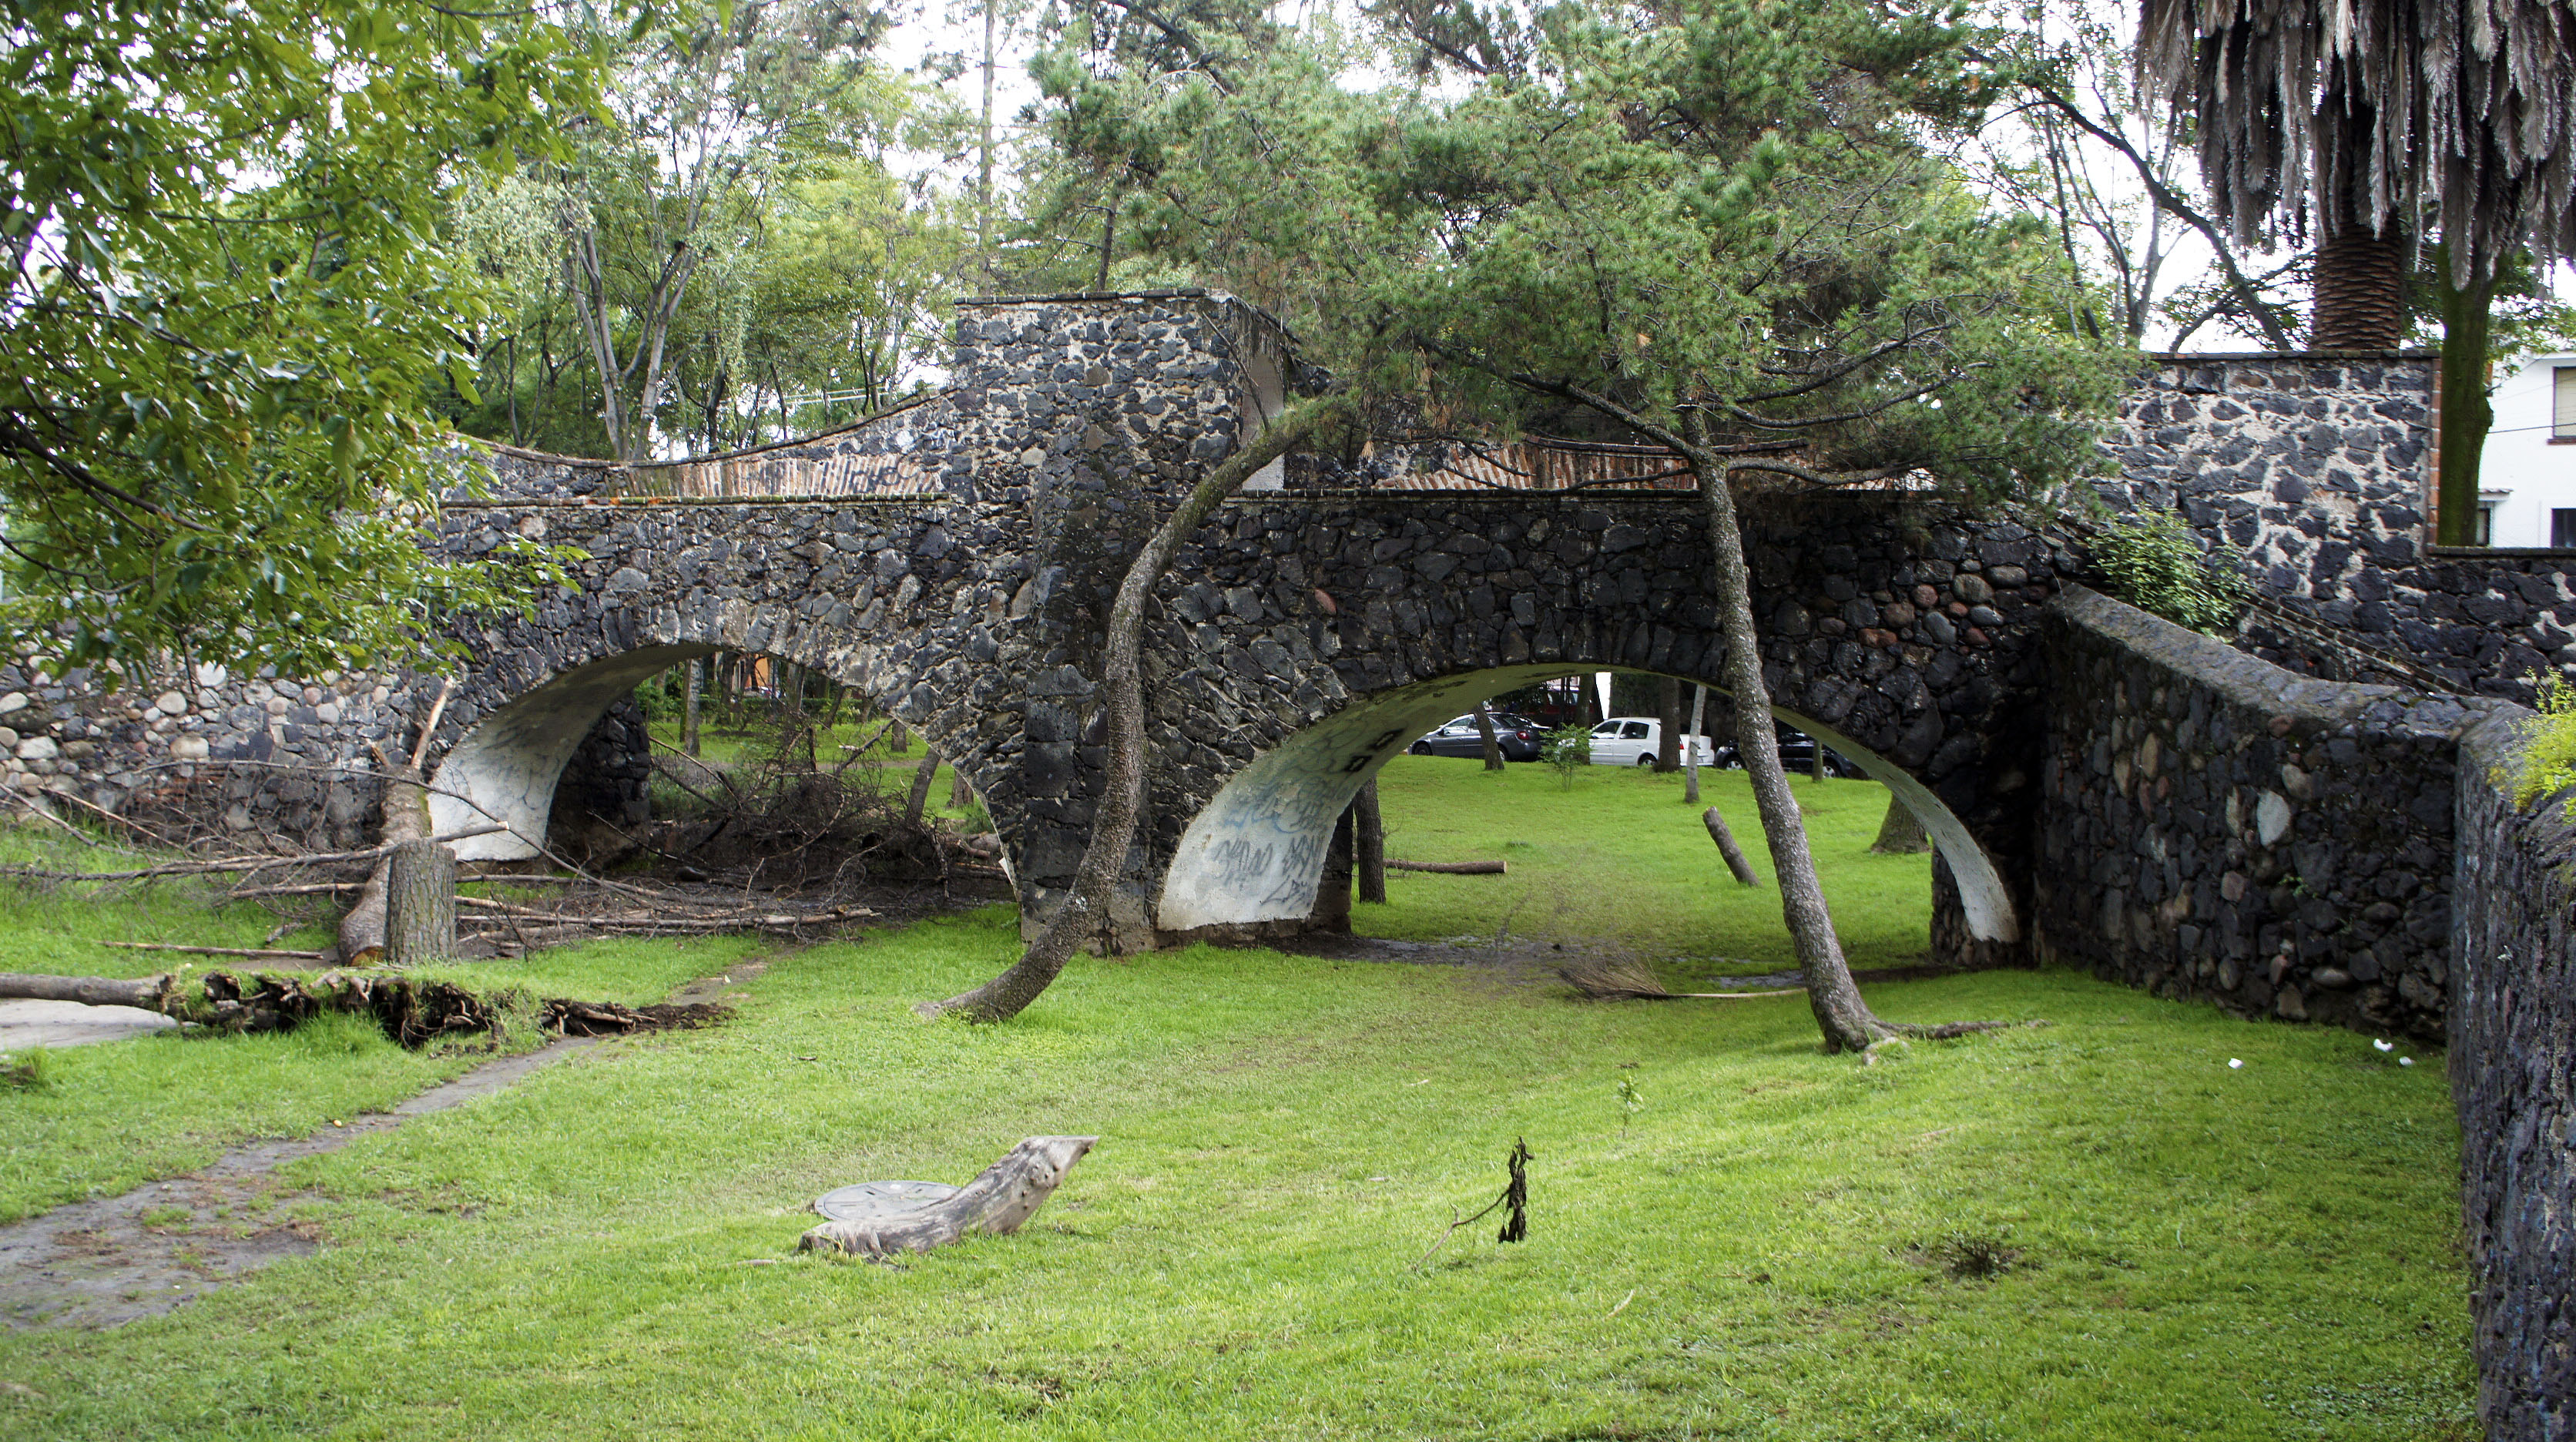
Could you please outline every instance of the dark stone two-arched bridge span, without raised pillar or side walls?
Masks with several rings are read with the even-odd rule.
[[[528,855],[603,708],[665,667],[762,651],[873,695],[984,793],[1028,914],[1069,886],[1103,713],[1108,566],[1054,564],[1018,500],[518,502],[453,510],[453,543],[572,543],[580,585],[477,633],[448,708],[440,829]],[[1955,955],[2022,940],[2040,711],[2038,608],[2071,564],[2017,523],[1896,500],[1752,528],[1783,718],[1896,788],[1945,863]],[[1090,536],[1084,536],[1090,541]],[[1108,559],[1115,559],[1115,548]],[[1146,623],[1151,788],[1121,945],[1301,922],[1342,809],[1471,703],[1633,670],[1716,685],[1690,494],[1252,494],[1180,554]]]

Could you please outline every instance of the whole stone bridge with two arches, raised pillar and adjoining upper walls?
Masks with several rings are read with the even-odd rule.
[[[1275,324],[1190,291],[963,301],[951,376],[737,456],[492,448],[469,466],[487,474],[448,497],[438,546],[587,559],[531,615],[456,626],[471,664],[435,747],[456,793],[440,821],[505,819],[474,842],[500,857],[559,801],[639,803],[641,729],[616,700],[714,649],[768,651],[927,731],[987,796],[1023,912],[1043,914],[1087,837],[1108,595],[1170,497],[1303,376]],[[2179,505],[2251,556],[2280,626],[2244,644],[2267,657],[2331,672],[2354,651],[2331,636],[2349,636],[2512,690],[2576,659],[2576,590],[2548,561],[2470,574],[2419,546],[2429,384],[2421,355],[2169,358],[2141,379],[2099,497]],[[1378,453],[1332,476],[1291,456],[1226,505],[1154,597],[1149,824],[1115,942],[1298,924],[1350,793],[1484,695],[1589,670],[1710,682],[1695,497],[1631,451]],[[2079,566],[2071,538],[1906,492],[1757,500],[1747,518],[1780,716],[1924,819],[1942,958],[2025,955],[2050,690],[2035,618]],[[0,667],[13,785],[106,809],[222,785],[234,827],[330,842],[371,814],[366,744],[415,726],[435,690],[201,672],[85,698],[80,680]]]

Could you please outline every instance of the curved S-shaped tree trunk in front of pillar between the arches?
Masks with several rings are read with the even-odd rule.
[[[1103,775],[1100,806],[1092,811],[1092,839],[1082,847],[1082,865],[1074,868],[1074,888],[1010,971],[945,1002],[922,1002],[914,1012],[925,1017],[958,1012],[976,1022],[1007,1022],[1056,981],[1092,927],[1108,924],[1110,894],[1118,886],[1128,845],[1136,842],[1136,814],[1144,809],[1144,603],[1162,572],[1172,566],[1180,543],[1229,494],[1327,425],[1345,422],[1350,412],[1352,404],[1345,397],[1321,397],[1283,409],[1249,445],[1200,476],[1180,507],[1136,551],[1126,579],[1118,582],[1118,600],[1110,603],[1100,667],[1100,693],[1108,700],[1108,775]]]

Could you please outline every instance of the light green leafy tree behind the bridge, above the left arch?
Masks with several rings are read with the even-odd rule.
[[[569,165],[469,193],[456,229],[513,296],[461,425],[652,458],[850,420],[933,358],[963,201],[889,149],[953,139],[935,93],[873,59],[884,18],[683,5],[623,39],[613,113]]]

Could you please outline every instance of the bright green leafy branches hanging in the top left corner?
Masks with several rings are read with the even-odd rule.
[[[510,600],[415,543],[487,304],[440,224],[587,113],[587,54],[430,5],[10,0],[0,72],[13,639],[317,672]]]

